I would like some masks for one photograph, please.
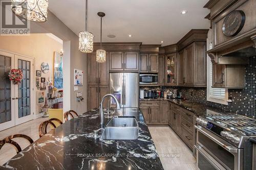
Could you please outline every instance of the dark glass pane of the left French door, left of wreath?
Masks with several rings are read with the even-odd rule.
[[[0,55],[0,124],[9,122],[11,116],[11,81],[8,74],[11,58]]]

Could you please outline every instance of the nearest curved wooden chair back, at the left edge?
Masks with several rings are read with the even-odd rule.
[[[21,138],[25,138],[27,139],[30,144],[33,143],[34,141],[27,135],[23,135],[23,134],[16,134],[16,135],[11,135],[11,136],[8,136],[2,140],[0,140],[0,150],[2,149],[2,147],[4,146],[4,144],[6,143],[10,143],[12,145],[14,145],[14,147],[16,148],[16,152],[19,153],[20,151],[22,151],[22,148],[20,148],[19,144],[17,142],[15,142],[14,140],[12,140],[13,138],[16,138],[16,137],[21,137]]]

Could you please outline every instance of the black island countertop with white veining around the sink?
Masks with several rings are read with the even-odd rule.
[[[126,109],[112,116],[122,114],[139,120],[138,139],[94,139],[100,119],[98,110],[91,110],[42,136],[0,169],[163,169],[141,112]]]

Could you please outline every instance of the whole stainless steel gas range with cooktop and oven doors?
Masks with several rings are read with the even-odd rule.
[[[238,114],[208,114],[196,119],[197,166],[207,169],[251,169],[256,120]]]

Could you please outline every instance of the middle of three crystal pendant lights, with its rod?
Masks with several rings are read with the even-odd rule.
[[[87,31],[87,6],[86,0],[86,31],[79,32],[79,51],[82,53],[93,52],[93,34]]]

